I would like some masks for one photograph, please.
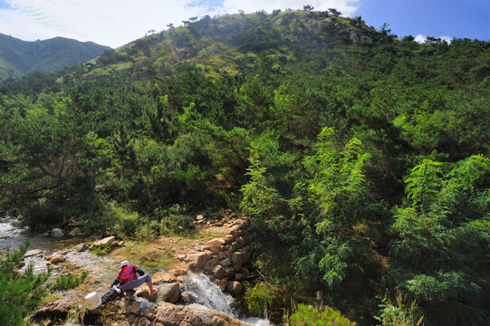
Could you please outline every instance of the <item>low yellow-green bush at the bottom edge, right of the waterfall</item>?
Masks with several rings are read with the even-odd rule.
[[[293,326],[356,326],[355,322],[343,317],[341,312],[336,312],[329,307],[319,312],[301,303],[298,304],[298,310],[291,315],[290,321]]]

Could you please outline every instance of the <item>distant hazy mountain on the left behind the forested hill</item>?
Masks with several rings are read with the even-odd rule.
[[[80,62],[88,62],[110,47],[63,37],[26,42],[0,34],[0,81],[31,72],[54,72]]]

